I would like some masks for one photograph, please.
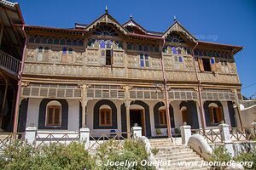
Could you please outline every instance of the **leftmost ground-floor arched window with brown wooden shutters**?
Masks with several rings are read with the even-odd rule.
[[[46,126],[61,126],[61,103],[55,100],[50,101],[46,108]]]

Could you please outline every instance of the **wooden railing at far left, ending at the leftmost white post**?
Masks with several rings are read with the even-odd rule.
[[[4,150],[17,139],[24,141],[24,135],[25,133],[0,133],[0,150]]]

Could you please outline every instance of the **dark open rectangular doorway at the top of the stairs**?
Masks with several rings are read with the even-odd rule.
[[[143,128],[143,136],[145,136],[145,116],[143,110],[130,110],[131,127],[133,127],[135,123]]]

